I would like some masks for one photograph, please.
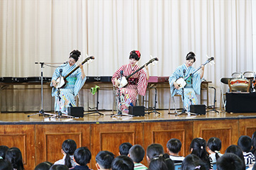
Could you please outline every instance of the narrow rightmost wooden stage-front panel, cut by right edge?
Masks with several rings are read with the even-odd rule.
[[[256,119],[240,119],[239,120],[239,136],[248,135],[252,137],[252,134],[256,131]]]

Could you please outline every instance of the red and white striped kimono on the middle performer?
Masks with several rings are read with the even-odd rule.
[[[116,72],[114,72],[114,75],[112,77],[112,83],[114,84],[114,79],[119,79],[121,74],[120,72],[123,71],[123,76],[127,77],[133,72],[135,72],[137,69],[139,69],[138,65],[135,65],[134,68],[132,68],[131,64],[124,64],[119,69],[117,69]],[[121,111],[124,113],[129,113],[129,106],[135,106],[136,105],[136,99],[137,95],[145,96],[146,94],[146,86],[148,84],[148,81],[146,80],[146,72],[144,72],[142,69],[139,70],[136,74],[132,75],[130,79],[137,79],[137,84],[130,84],[128,83],[127,86],[120,88],[120,98],[121,98]]]

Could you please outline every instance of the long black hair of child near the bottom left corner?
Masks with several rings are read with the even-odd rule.
[[[6,152],[6,160],[11,162],[14,169],[23,170],[22,154],[18,147],[11,147]]]

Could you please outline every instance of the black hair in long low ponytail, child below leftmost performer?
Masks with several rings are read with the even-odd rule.
[[[74,140],[65,140],[62,145],[63,152],[65,152],[65,166],[72,167],[70,155],[73,155],[77,145]]]

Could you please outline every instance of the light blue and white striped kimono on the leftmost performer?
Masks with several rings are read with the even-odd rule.
[[[60,69],[63,69],[61,75],[65,77],[69,72],[77,67],[76,64],[70,67],[70,64],[63,64],[62,66],[55,69],[53,73],[52,80],[58,79],[60,77]],[[55,96],[55,111],[61,111],[64,114],[68,113],[68,107],[76,106],[75,104],[75,96],[78,95],[80,89],[85,84],[86,77],[82,79],[81,69],[78,68],[70,74],[66,79],[68,82],[63,89],[60,89],[60,101],[58,100],[58,90],[53,87],[52,96]],[[52,84],[50,84],[52,86]]]

